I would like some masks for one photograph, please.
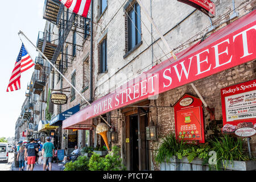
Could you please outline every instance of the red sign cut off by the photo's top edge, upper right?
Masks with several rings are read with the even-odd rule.
[[[216,6],[210,0],[177,0],[179,2],[186,3],[187,5],[193,6],[196,9],[202,11],[203,13],[207,14],[208,16],[215,16],[216,15]]]

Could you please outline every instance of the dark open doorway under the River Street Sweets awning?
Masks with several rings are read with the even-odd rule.
[[[147,113],[130,115],[130,170],[148,169],[148,142],[146,140]]]

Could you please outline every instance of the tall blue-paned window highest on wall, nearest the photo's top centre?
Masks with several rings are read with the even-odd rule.
[[[128,11],[128,51],[141,42],[141,7],[135,3]]]

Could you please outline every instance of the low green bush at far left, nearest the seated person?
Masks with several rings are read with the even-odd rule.
[[[86,156],[79,156],[74,162],[65,164],[64,171],[88,171],[89,159]]]

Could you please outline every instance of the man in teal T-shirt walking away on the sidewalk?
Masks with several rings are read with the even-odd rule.
[[[47,162],[49,163],[49,171],[52,170],[52,157],[54,156],[54,146],[50,142],[51,138],[46,137],[46,143],[44,143],[42,148],[42,158],[44,161],[43,170],[46,169]]]

